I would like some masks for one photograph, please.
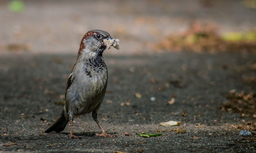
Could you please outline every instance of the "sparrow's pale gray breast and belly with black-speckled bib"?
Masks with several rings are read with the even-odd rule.
[[[72,97],[69,103],[69,111],[74,115],[82,115],[95,110],[103,101],[107,81],[108,71],[104,59],[88,59],[83,64],[76,64],[80,67],[75,73],[74,80],[67,93],[67,97]],[[67,99],[66,99],[67,100]],[[66,102],[67,103],[67,102]]]

